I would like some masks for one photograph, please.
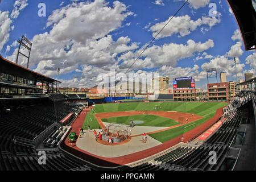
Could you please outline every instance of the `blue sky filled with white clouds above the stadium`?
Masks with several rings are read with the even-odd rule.
[[[39,16],[39,3],[46,16]],[[90,87],[110,69],[126,72],[183,0],[2,0],[0,53],[15,61],[16,40],[33,43],[30,69],[57,78],[62,86]],[[216,11],[210,3],[215,3]],[[42,13],[42,11],[40,11]],[[193,76],[206,88],[206,69],[235,80],[256,74],[255,51],[245,52],[240,30],[226,1],[189,0],[134,64],[131,72],[159,73],[171,79]],[[26,65],[23,57],[19,64]]]

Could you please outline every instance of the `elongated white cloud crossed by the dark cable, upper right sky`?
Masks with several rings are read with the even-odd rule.
[[[158,34],[158,32],[171,18],[172,16],[168,18],[168,20],[166,20],[165,22],[156,23],[154,26],[151,26],[150,30],[153,32],[152,36]],[[203,16],[202,18],[199,18],[197,20],[192,20],[189,15],[176,16],[158,35],[157,39],[172,36],[174,34],[177,34],[179,36],[186,36],[191,34],[192,31],[195,31],[197,27],[205,25],[211,28],[217,23],[220,23],[220,21],[220,16],[218,16],[218,18]]]

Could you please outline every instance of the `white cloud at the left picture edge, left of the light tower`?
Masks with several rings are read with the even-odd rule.
[[[9,40],[11,23],[9,11],[0,11],[0,51]]]

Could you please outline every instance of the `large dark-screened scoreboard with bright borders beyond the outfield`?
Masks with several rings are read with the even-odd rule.
[[[195,89],[196,83],[192,77],[174,78],[174,89]]]

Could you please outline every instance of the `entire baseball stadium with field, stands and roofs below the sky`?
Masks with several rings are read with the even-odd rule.
[[[228,2],[255,49],[251,1]],[[0,171],[255,170],[255,79],[240,82],[233,99],[210,84],[216,100],[90,97],[60,93],[60,80],[0,55]]]

